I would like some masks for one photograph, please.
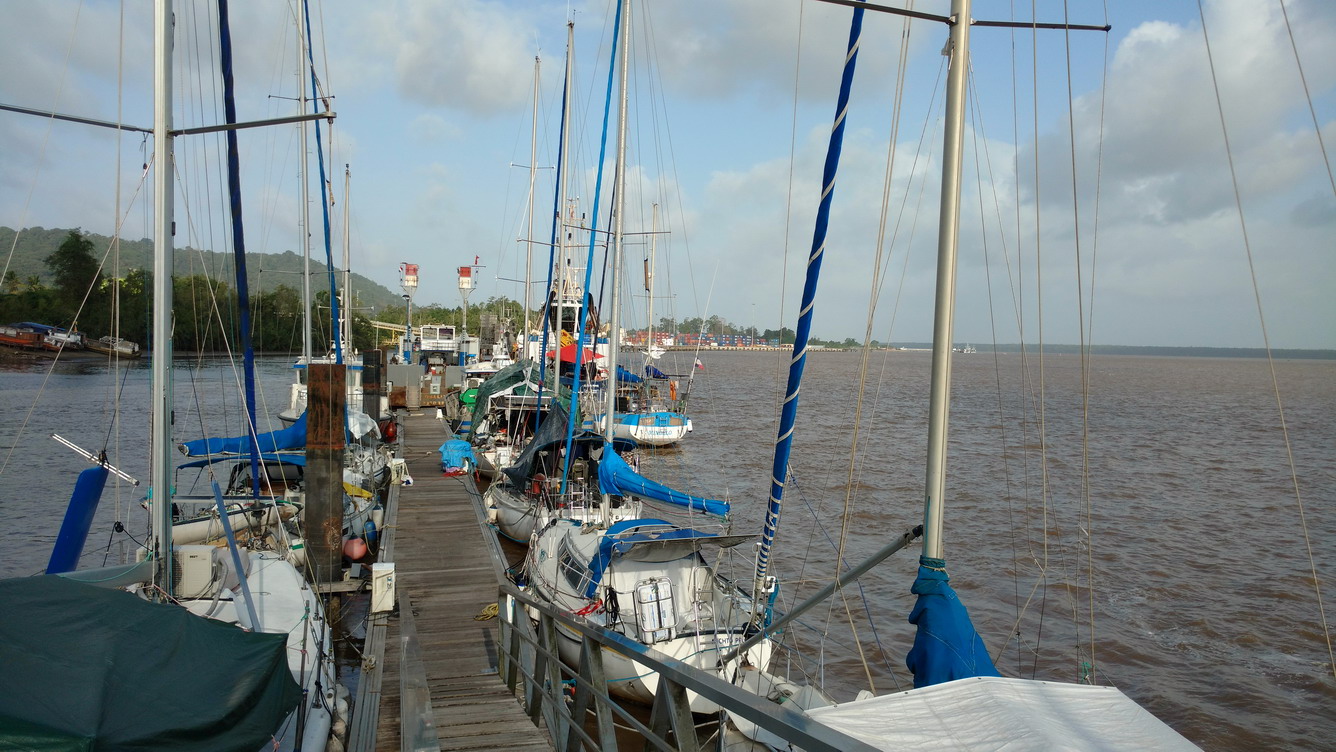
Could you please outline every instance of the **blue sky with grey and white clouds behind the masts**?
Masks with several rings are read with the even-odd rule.
[[[222,120],[206,5],[178,9],[178,127]],[[1041,31],[1035,43],[1029,31],[973,31],[955,339],[1075,343],[1083,327],[1102,345],[1257,347],[1256,290],[1273,347],[1336,347],[1336,187],[1313,122],[1336,144],[1336,4],[1204,0],[1205,36],[1196,3],[1112,3],[1108,19],[1104,5],[1074,1],[1066,13],[1112,24],[1108,35]],[[524,295],[534,57],[537,278],[552,231],[566,20],[576,44],[568,198],[592,215],[597,196],[604,228],[611,170],[601,194],[595,179],[613,7],[315,8],[318,75],[338,114],[322,132],[335,254],[347,206],[354,268],[397,290],[398,264],[418,263],[418,303],[458,305],[454,268],[474,258],[474,302]],[[947,3],[915,8],[945,13]],[[1029,12],[1030,3],[981,0],[974,16]],[[1035,15],[1063,12],[1045,0]],[[231,13],[240,119],[293,114],[294,11],[234,0]],[[656,319],[794,326],[850,15],[811,0],[636,3],[628,326],[645,319],[640,259],[653,204]],[[0,103],[151,126],[150,3],[0,0]],[[862,339],[870,310],[876,339],[930,337],[945,39],[939,23],[867,15],[818,337]],[[176,243],[222,250],[220,140],[179,142]],[[138,134],[0,112],[0,224],[111,234],[119,192],[123,235],[151,234],[140,179],[151,150]],[[247,247],[299,248],[298,130],[246,131],[240,148]],[[310,172],[318,192],[314,152]],[[313,198],[323,252],[319,208]]]

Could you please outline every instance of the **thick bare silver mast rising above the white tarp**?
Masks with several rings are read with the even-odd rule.
[[[965,85],[970,68],[970,0],[951,0],[946,136],[942,150],[942,210],[938,220],[937,303],[933,315],[933,387],[923,490],[923,556],[942,558],[946,505],[946,435],[951,413],[951,333],[955,325],[955,254],[961,226],[961,166],[965,152]]]

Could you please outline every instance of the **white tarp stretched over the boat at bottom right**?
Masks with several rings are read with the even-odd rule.
[[[878,749],[1197,749],[1113,687],[1006,677],[812,708]]]

